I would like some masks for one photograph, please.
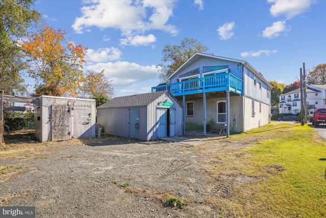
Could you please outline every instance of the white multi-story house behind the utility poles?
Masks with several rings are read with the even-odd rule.
[[[306,89],[309,114],[317,108],[326,107],[326,85],[309,85]],[[280,95],[280,113],[296,114],[301,110],[300,88]]]

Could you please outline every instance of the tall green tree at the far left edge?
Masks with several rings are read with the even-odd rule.
[[[31,9],[34,3],[35,0],[0,1],[0,89],[7,94],[26,91],[21,72],[27,66],[17,40],[41,17],[38,11]]]

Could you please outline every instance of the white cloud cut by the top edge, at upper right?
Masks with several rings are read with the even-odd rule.
[[[298,14],[309,10],[310,6],[315,2],[314,0],[267,0],[273,5],[270,7],[270,15],[278,17],[285,15],[287,19],[295,17]]]

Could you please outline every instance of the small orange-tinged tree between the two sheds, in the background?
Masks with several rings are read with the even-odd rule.
[[[96,100],[96,107],[110,100],[114,93],[112,80],[107,79],[104,70],[101,72],[89,71],[81,91],[84,98]]]

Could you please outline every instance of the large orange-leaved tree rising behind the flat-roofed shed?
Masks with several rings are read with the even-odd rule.
[[[82,68],[87,49],[68,42],[65,35],[66,31],[44,23],[28,35],[21,49],[31,66],[29,75],[39,82],[38,86],[48,87],[51,95],[76,96],[80,83],[84,82]]]

